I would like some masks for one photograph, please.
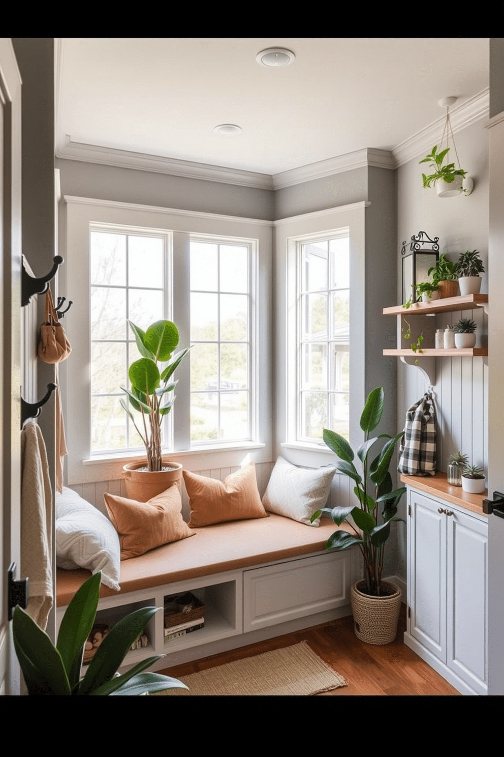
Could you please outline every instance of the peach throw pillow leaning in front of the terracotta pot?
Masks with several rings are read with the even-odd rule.
[[[104,494],[104,500],[119,534],[122,560],[194,535],[182,519],[181,493],[175,484],[147,502],[128,500],[115,494]]]

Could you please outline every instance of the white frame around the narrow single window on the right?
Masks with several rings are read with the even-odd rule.
[[[330,238],[339,229],[348,228],[350,245],[350,444],[355,444],[360,431],[360,412],[365,400],[364,389],[364,325],[365,325],[365,210],[367,202],[333,207],[316,213],[286,218],[275,222],[277,254],[277,382],[285,388],[277,395],[277,439],[279,453],[289,450],[295,465],[326,465],[328,455],[334,458],[323,441],[298,439],[298,243],[316,237]]]

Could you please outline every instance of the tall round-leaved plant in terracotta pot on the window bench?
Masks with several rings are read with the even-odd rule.
[[[121,387],[128,395],[121,404],[144,442],[147,462],[128,463],[122,470],[128,497],[147,502],[172,483],[179,488],[181,485],[181,464],[162,459],[161,425],[175,402],[172,393],[177,382],[173,374],[189,348],[174,353],[179,337],[172,321],[156,321],[145,332],[128,322],[142,357],[131,363],[128,372],[131,388]],[[161,370],[159,363],[165,363]],[[133,411],[140,416],[135,419]]]

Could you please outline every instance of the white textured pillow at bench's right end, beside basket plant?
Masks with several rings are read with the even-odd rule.
[[[319,525],[320,518],[313,523],[310,519],[326,506],[334,472],[334,466],[297,468],[278,457],[262,498],[264,509],[306,525]]]

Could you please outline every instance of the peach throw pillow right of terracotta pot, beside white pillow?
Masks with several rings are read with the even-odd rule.
[[[192,528],[231,520],[267,518],[255,478],[255,465],[230,473],[224,481],[183,472],[189,495]]]

